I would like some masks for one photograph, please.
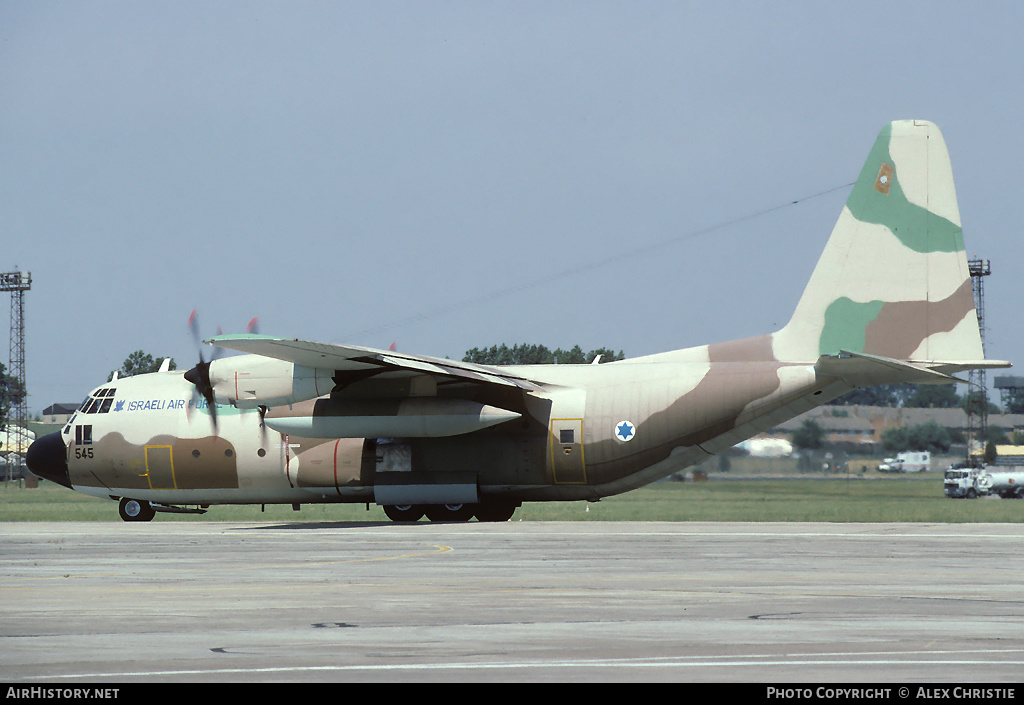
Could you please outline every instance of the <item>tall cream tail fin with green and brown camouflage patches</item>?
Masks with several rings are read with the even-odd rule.
[[[845,352],[943,373],[1006,366],[984,360],[949,155],[933,123],[879,134],[773,347],[795,362]]]

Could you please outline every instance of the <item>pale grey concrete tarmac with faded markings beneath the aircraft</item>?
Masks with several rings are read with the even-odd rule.
[[[1014,682],[1021,525],[0,525],[0,679]]]

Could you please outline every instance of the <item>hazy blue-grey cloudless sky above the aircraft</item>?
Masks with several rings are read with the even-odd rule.
[[[1021,37],[997,1],[0,0],[29,411],[136,349],[191,367],[193,309],[453,359],[777,330],[907,118],[1024,364]]]

